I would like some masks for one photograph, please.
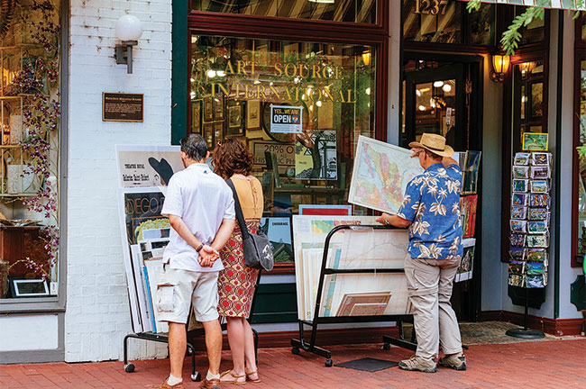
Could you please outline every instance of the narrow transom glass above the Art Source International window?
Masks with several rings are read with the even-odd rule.
[[[376,23],[377,4],[377,0],[202,0],[192,1],[192,9],[224,14]]]

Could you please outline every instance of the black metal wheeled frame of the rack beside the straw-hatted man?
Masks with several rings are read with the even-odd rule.
[[[330,245],[330,240],[334,234],[338,231],[360,231],[360,230],[398,230],[392,226],[382,225],[340,225],[334,227],[325,237],[324,255],[322,258],[322,267],[319,274],[319,282],[317,286],[316,295],[316,308],[313,315],[313,320],[298,320],[299,324],[299,339],[291,339],[291,352],[295,355],[300,353],[303,349],[307,352],[312,352],[320,357],[325,357],[325,366],[331,367],[332,353],[325,349],[316,346],[317,338],[317,327],[320,324],[333,324],[333,323],[349,323],[349,322],[371,322],[371,321],[397,321],[398,323],[398,334],[399,338],[392,338],[389,336],[383,336],[383,348],[385,350],[390,349],[390,345],[399,346],[401,348],[407,348],[410,350],[416,350],[417,344],[415,341],[415,330],[412,332],[411,340],[407,341],[403,332],[403,321],[413,322],[412,314],[392,314],[392,315],[368,315],[368,316],[335,316],[326,317],[319,316],[320,306],[322,304],[322,294],[324,291],[325,276],[333,275],[349,275],[349,274],[389,274],[389,273],[404,273],[403,268],[355,268],[355,269],[336,269],[327,267],[327,253]],[[305,326],[311,327],[311,337],[309,342],[306,341],[304,335]]]

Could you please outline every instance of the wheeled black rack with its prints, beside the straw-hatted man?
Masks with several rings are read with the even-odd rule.
[[[301,300],[307,301],[306,306],[313,308],[308,308],[307,314],[304,314],[303,308],[299,310],[299,339],[291,339],[293,354],[298,355],[300,349],[313,352],[325,357],[325,366],[332,366],[331,352],[316,346],[317,328],[322,324],[350,322],[396,321],[399,338],[383,336],[383,348],[388,350],[391,344],[411,350],[417,348],[413,339],[405,339],[402,328],[403,321],[413,322],[413,315],[409,313],[403,251],[395,250],[396,253],[401,252],[402,258],[396,254],[391,258],[392,248],[402,247],[404,240],[407,240],[407,231],[391,226],[338,225],[329,231],[325,237],[318,280],[316,283],[309,281],[310,285],[298,283],[298,294],[304,293],[299,289],[308,294]],[[380,247],[378,253],[374,254],[376,248],[371,249],[373,246]],[[353,257],[365,248],[370,250],[370,255]],[[316,275],[319,260],[310,263],[305,252],[309,250],[303,251],[302,258],[296,257],[296,267],[299,261],[299,267],[303,267],[299,269],[300,273]],[[387,251],[389,258],[383,251]],[[316,252],[322,253],[321,249]],[[312,294],[311,290],[315,287],[317,293]],[[306,326],[311,327],[309,341],[304,335]]]

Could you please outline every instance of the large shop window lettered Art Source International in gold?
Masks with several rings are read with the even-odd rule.
[[[374,137],[374,48],[201,35],[191,48],[191,131],[210,149],[225,137],[246,142],[264,216],[346,204],[358,136]],[[299,125],[279,129],[271,108],[288,107]]]

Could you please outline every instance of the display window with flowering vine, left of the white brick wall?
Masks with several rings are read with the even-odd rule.
[[[54,2],[17,4],[0,10],[4,299],[55,295],[59,278],[60,10]]]

